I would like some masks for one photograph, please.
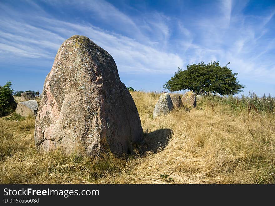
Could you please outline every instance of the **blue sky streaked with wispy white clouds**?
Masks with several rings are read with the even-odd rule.
[[[3,1],[0,85],[39,90],[56,52],[85,35],[114,58],[121,81],[161,91],[187,64],[219,61],[244,94],[275,96],[274,1]]]

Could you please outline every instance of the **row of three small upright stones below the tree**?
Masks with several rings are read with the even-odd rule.
[[[197,105],[197,96],[195,93],[186,92],[181,98],[179,94],[163,93],[160,95],[158,102],[153,111],[153,119],[158,116],[167,115],[176,108],[194,108]]]

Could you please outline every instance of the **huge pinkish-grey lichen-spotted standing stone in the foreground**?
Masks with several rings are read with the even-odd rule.
[[[138,110],[113,57],[85,36],[64,41],[44,83],[35,121],[37,149],[129,154],[142,138]]]

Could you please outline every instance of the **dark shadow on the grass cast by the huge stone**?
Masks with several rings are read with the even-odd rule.
[[[157,153],[158,151],[163,150],[166,145],[168,145],[172,134],[173,131],[171,129],[158,129],[153,132],[148,132],[148,130],[146,130],[143,132],[143,142],[136,147],[139,155],[144,156],[148,151]]]

